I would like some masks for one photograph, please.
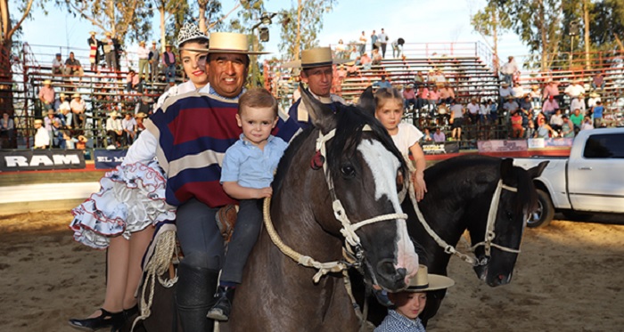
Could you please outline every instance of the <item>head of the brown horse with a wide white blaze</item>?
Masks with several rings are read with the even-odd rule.
[[[371,105],[372,98],[367,90],[361,100]],[[315,126],[306,141],[317,151],[302,144],[297,153],[323,166],[301,170],[316,179],[319,191],[310,197],[316,223],[346,240],[365,279],[389,291],[405,288],[418,258],[398,201],[398,187],[408,179],[403,158],[370,109],[330,109],[307,90],[302,99]]]

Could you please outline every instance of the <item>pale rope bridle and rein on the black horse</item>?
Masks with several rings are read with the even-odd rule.
[[[474,253],[477,247],[483,246],[485,250],[485,256],[482,259],[479,259],[478,257],[472,257],[471,255],[465,255],[457,251],[455,247],[449,245],[447,241],[440,238],[439,235],[436,234],[436,232],[431,229],[431,226],[429,226],[429,224],[424,220],[423,213],[421,212],[420,208],[418,208],[418,204],[416,203],[415,192],[412,186],[410,186],[409,188],[409,195],[410,198],[412,198],[412,202],[414,203],[414,209],[416,212],[416,216],[418,217],[418,221],[423,225],[424,230],[427,231],[429,236],[431,236],[431,239],[434,239],[436,243],[438,243],[439,247],[444,248],[445,253],[449,255],[456,255],[464,262],[471,263],[473,266],[480,266],[488,263],[492,247],[496,247],[497,249],[506,251],[508,253],[520,253],[520,249],[513,249],[511,247],[505,247],[494,243],[494,239],[497,236],[496,232],[494,231],[494,227],[497,220],[498,203],[500,202],[500,196],[502,190],[504,189],[513,192],[518,191],[517,188],[513,188],[503,183],[503,179],[498,180],[497,189],[494,190],[494,194],[492,195],[492,201],[489,205],[488,223],[486,224],[485,236],[483,237],[483,241],[470,247],[471,252]]]

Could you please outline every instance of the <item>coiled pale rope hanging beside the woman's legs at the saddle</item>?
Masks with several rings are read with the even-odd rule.
[[[177,275],[172,279],[164,279],[161,276],[168,271],[171,257],[176,255],[176,231],[163,231],[156,240],[156,246],[153,255],[145,264],[145,281],[141,289],[141,305],[139,305],[139,316],[132,323],[130,331],[135,329],[136,323],[145,320],[152,314],[152,304],[154,300],[154,290],[156,287],[156,278],[163,287],[172,287],[177,282]],[[149,296],[145,301],[145,293],[149,286]]]

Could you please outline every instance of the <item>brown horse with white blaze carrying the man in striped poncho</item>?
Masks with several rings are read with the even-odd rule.
[[[357,266],[366,282],[400,291],[417,269],[398,200],[406,165],[389,134],[365,111],[336,105],[334,112],[303,91],[314,126],[292,140],[277,167],[265,203],[270,222],[224,330],[357,331],[361,321],[341,270]],[[372,100],[370,89],[361,98]],[[284,245],[314,256],[317,263],[308,265],[315,268],[301,266],[307,256],[297,262],[285,255]],[[341,262],[344,251],[351,263]]]

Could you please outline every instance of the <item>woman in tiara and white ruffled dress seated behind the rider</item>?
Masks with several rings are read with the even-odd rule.
[[[208,47],[208,36],[186,23],[177,36],[179,49]],[[160,96],[159,107],[168,97],[198,91],[208,84],[206,53],[180,53],[189,80]],[[143,274],[141,260],[156,223],[173,221],[176,209],[165,202],[165,177],[152,160],[154,140],[145,132],[127,150],[124,162],[100,180],[101,189],[72,210],[70,228],[74,239],[89,247],[108,247],[107,284],[104,302],[86,319],[71,319],[81,330],[117,329],[138,312],[135,290]]]

